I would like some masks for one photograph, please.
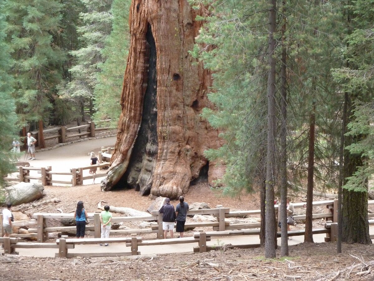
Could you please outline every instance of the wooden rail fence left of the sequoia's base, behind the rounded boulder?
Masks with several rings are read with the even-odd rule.
[[[109,161],[111,157],[111,152],[114,148],[101,148],[98,153],[99,163],[95,167],[99,170],[103,170],[109,167]],[[53,184],[66,184],[66,185],[83,185],[83,181],[86,179],[100,178],[106,176],[105,173],[98,173],[94,175],[83,175],[84,170],[89,170],[93,166],[85,166],[79,168],[71,168],[69,172],[53,172],[51,166],[47,167],[29,167],[29,166],[18,166],[16,167],[16,172],[13,173],[13,177],[4,177],[5,181],[12,182],[30,182],[31,179],[37,180],[42,185],[53,185]],[[31,171],[36,171],[30,174]],[[14,177],[15,176],[15,177]],[[66,180],[54,179],[56,176],[58,178],[66,178]]]

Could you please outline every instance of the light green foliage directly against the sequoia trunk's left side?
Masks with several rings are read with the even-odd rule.
[[[120,97],[129,48],[130,4],[130,0],[114,0],[110,10],[113,29],[101,52],[105,61],[98,64],[101,71],[93,92],[96,124],[111,119],[111,126],[116,127],[121,114]]]

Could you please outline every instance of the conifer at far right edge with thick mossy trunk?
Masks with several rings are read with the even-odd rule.
[[[347,108],[344,124],[342,241],[371,244],[368,226],[368,179],[373,175],[374,59],[373,1],[348,1],[346,64],[335,70]]]

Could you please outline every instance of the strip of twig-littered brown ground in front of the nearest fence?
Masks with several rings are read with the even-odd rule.
[[[6,255],[0,257],[0,280],[374,280],[372,245],[343,245],[336,254],[334,244],[304,243],[291,246],[289,257],[270,260],[263,251],[76,259]]]

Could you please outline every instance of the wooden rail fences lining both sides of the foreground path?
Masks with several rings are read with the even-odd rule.
[[[313,206],[325,206],[328,209],[326,213],[313,214],[313,219],[325,218],[324,227],[313,229],[313,234],[325,233],[325,242],[336,242],[337,237],[337,223],[334,220],[336,217],[337,200],[318,201],[313,202]],[[374,205],[374,200],[368,202],[369,205]],[[56,248],[58,253],[56,257],[76,257],[76,256],[87,256],[87,257],[107,257],[107,256],[119,256],[119,255],[137,255],[140,254],[138,247],[149,246],[149,245],[174,245],[174,244],[185,244],[185,243],[197,243],[198,246],[193,247],[194,252],[205,252],[217,249],[217,246],[206,245],[207,241],[211,241],[212,237],[225,237],[225,236],[238,236],[238,235],[260,235],[260,222],[257,223],[237,223],[229,224],[225,222],[225,218],[230,217],[243,217],[248,215],[259,215],[260,210],[252,211],[230,211],[229,208],[223,206],[217,206],[215,209],[200,209],[190,210],[187,215],[213,215],[217,218],[217,221],[210,222],[190,222],[187,221],[185,228],[202,228],[212,227],[213,231],[202,231],[195,232],[191,237],[184,238],[172,238],[162,239],[162,214],[158,211],[152,211],[152,214],[144,217],[113,217],[112,222],[121,221],[151,221],[151,227],[146,229],[117,229],[110,230],[111,236],[126,236],[120,238],[100,238],[100,219],[99,213],[89,213],[89,218],[93,219],[90,224],[86,226],[86,232],[93,235],[94,238],[84,239],[69,239],[67,236],[57,239],[55,243],[43,243],[48,237],[48,232],[75,232],[75,226],[67,227],[48,227],[49,219],[65,219],[73,218],[73,214],[48,214],[48,213],[36,213],[30,220],[15,221],[13,226],[36,226],[29,228],[29,234],[13,234],[10,238],[0,238],[0,242],[4,244],[4,253],[12,253],[17,248]],[[304,203],[294,203],[295,209],[304,208]],[[275,211],[278,211],[278,205],[275,205]],[[369,218],[373,218],[374,214],[369,214]],[[295,215],[295,220],[305,220],[305,215]],[[0,215],[0,221],[2,215]],[[370,224],[374,224],[373,219],[369,219]],[[2,225],[0,225],[1,236],[3,235]],[[141,236],[144,233],[155,233],[157,239],[154,240],[143,240]],[[288,232],[288,236],[300,236],[304,235],[305,230],[292,230]],[[278,237],[281,236],[281,232],[278,232]],[[37,242],[20,242],[20,239],[27,237],[35,237]],[[374,235],[370,236],[374,239]],[[99,243],[126,243],[127,247],[131,247],[129,252],[123,253],[68,253],[69,249],[74,249],[77,244],[99,244]],[[239,248],[252,248],[259,247],[259,244],[242,244],[235,245]]]

